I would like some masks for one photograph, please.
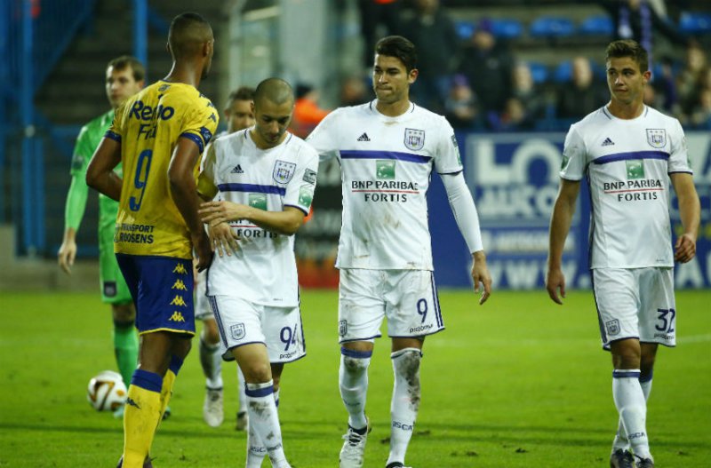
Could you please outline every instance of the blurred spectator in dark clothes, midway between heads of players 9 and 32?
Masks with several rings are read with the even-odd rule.
[[[513,58],[491,34],[491,20],[480,20],[462,52],[459,71],[467,76],[485,115],[499,114],[511,96]]]

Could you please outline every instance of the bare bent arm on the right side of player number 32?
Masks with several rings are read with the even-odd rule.
[[[699,234],[701,204],[696,193],[693,176],[686,172],[669,175],[679,201],[679,215],[682,218],[683,234],[676,239],[674,259],[686,263],[696,255],[696,238]]]

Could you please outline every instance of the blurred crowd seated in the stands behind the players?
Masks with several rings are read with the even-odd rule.
[[[364,41],[363,67],[372,65],[377,36],[399,34],[418,46],[419,77],[411,99],[446,115],[452,126],[474,131],[565,131],[609,100],[600,57],[562,57],[543,65],[516,57],[512,37],[522,35],[516,21],[482,18],[461,24],[440,0],[358,0]],[[674,115],[690,129],[711,129],[711,64],[699,37],[703,28],[685,34],[665,16],[663,0],[599,0],[604,12],[580,26],[584,33],[603,34],[596,44],[634,38],[651,52],[651,86],[645,102]],[[561,17],[563,18],[563,17]],[[711,14],[709,15],[711,18]],[[563,20],[554,25],[568,34]],[[593,24],[595,22],[595,25]],[[698,21],[697,21],[698,22]],[[535,24],[534,24],[535,23]],[[531,21],[529,36],[542,34]],[[561,26],[563,25],[563,26]],[[536,28],[534,30],[534,28]],[[655,55],[653,40],[665,36],[685,54]],[[560,44],[560,43],[559,43]],[[542,47],[555,47],[543,43]],[[358,77],[343,83],[340,105],[364,102],[370,84]]]

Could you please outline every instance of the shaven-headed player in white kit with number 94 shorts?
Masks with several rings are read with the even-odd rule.
[[[306,354],[293,234],[311,207],[318,155],[286,132],[293,106],[288,83],[260,83],[254,127],[216,139],[200,176],[202,194],[219,194],[200,210],[219,254],[207,296],[224,356],[236,359],[246,381],[247,468],[267,454],[275,468],[290,466],[276,401],[284,363]]]

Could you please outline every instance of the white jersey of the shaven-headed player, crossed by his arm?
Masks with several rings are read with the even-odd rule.
[[[318,155],[287,134],[277,147],[260,149],[244,129],[214,140],[201,177],[220,190],[216,200],[308,214],[316,188]],[[294,237],[269,232],[245,219],[230,223],[240,237],[232,256],[215,255],[207,273],[208,296],[238,296],[261,305],[299,305]]]

